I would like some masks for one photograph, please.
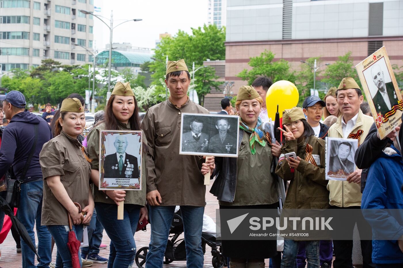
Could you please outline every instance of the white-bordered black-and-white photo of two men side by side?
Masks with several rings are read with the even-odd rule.
[[[179,154],[238,157],[239,116],[182,113]]]

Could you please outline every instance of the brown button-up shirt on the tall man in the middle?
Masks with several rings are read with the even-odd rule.
[[[206,186],[200,172],[204,159],[179,155],[182,113],[208,113],[188,100],[177,107],[169,100],[145,113],[141,129],[148,142],[147,192],[158,190],[162,206],[205,206]]]

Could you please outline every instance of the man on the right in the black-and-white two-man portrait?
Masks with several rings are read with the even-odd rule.
[[[237,138],[228,133],[230,124],[226,119],[216,121],[218,134],[212,136],[208,142],[208,153],[236,154]]]

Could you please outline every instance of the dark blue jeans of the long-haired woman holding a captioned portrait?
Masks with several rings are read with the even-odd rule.
[[[140,208],[132,204],[123,207],[123,220],[118,220],[118,206],[95,202],[97,216],[110,238],[108,268],[132,267],[136,255],[134,234],[139,223]]]

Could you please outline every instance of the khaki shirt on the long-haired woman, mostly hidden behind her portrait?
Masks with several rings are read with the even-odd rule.
[[[118,124],[118,130],[131,130],[129,124]],[[100,153],[100,130],[105,129],[105,123],[101,123],[95,128],[91,130],[91,132],[87,135],[87,150],[88,156],[92,159],[91,162],[91,169],[99,170],[99,153]],[[145,135],[142,135],[143,146],[147,144],[147,140]],[[128,145],[130,146],[130,144]],[[146,153],[144,150],[142,152],[143,162],[141,164],[141,190],[130,190],[126,191],[125,196],[125,204],[135,204],[144,206],[145,205],[145,188],[146,188],[146,178],[147,178],[147,170],[146,170]],[[110,199],[104,191],[100,191],[98,187],[94,185],[94,202],[102,202],[108,204],[115,204],[115,202]]]

